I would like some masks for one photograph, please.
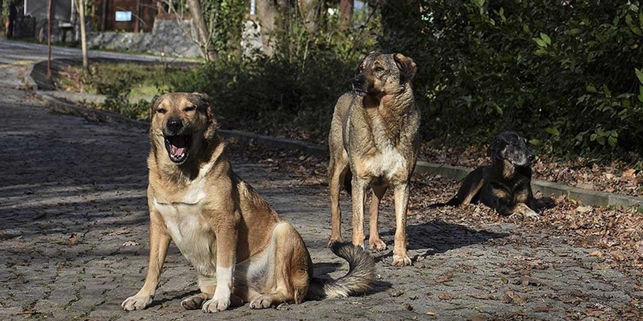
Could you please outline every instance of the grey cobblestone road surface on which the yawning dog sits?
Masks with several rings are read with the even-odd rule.
[[[125,312],[147,262],[147,136],[125,126],[51,114],[28,92],[0,89],[0,320],[641,320],[637,272],[622,272],[550,232],[511,223],[409,220],[415,264],[390,266],[361,297],[204,315],[179,302],[196,290],[174,245],[145,311]],[[235,148],[242,151],[245,148]],[[300,231],[316,275],[347,266],[325,245],[325,184],[307,182],[253,155],[233,166]],[[349,213],[343,198],[343,213]],[[381,230],[392,247],[392,209]],[[343,217],[350,236],[350,218]],[[638,276],[637,276],[638,275]],[[637,317],[638,315],[638,317]]]

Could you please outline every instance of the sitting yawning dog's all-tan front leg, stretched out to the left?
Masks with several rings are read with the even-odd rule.
[[[161,219],[161,214],[150,204],[150,257],[147,264],[145,284],[136,295],[123,301],[121,304],[123,309],[127,311],[142,310],[152,303],[169,246],[170,236],[165,230],[165,223]]]

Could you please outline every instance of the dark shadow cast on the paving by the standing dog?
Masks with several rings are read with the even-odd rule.
[[[393,256],[394,235],[395,229],[386,229],[380,233],[388,248],[382,251],[383,255],[377,256],[376,260],[381,261],[386,257]],[[509,233],[474,230],[465,225],[448,223],[442,220],[433,220],[406,226],[408,250],[426,250],[423,254],[417,254],[415,259],[417,259],[417,257],[424,258],[433,256],[447,252],[448,250],[484,243],[489,239],[505,238],[507,236],[509,236]]]

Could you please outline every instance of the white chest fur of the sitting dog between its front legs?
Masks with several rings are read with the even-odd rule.
[[[213,277],[217,270],[216,238],[208,224],[203,223],[201,204],[159,203],[154,199],[168,234],[198,273]]]

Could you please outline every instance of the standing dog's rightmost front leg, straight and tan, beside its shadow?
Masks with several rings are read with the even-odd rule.
[[[408,184],[395,186],[395,246],[393,265],[411,265],[411,258],[406,254],[406,210],[408,209]]]

